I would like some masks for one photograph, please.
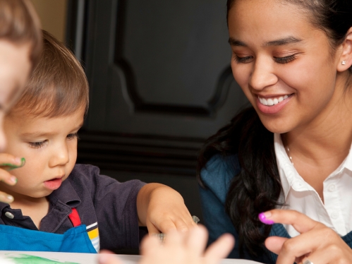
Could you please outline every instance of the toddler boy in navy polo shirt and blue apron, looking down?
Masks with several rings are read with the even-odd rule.
[[[188,229],[183,198],[162,184],[119,183],[91,165],[75,164],[88,84],[73,54],[43,32],[42,59],[25,93],[6,116],[6,152],[25,157],[14,197],[0,203],[0,250],[99,252],[138,248],[149,232]]]

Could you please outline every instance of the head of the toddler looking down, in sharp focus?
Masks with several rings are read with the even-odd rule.
[[[43,198],[61,186],[75,165],[77,132],[88,107],[80,63],[49,33],[43,36],[42,58],[4,123],[6,152],[26,160],[25,167],[11,172],[18,184],[1,186],[15,201]]]

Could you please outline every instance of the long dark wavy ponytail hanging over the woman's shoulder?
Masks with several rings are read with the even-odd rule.
[[[231,123],[209,138],[200,152],[198,176],[210,158],[238,154],[241,172],[233,178],[226,199],[226,212],[243,246],[253,255],[263,251],[262,244],[270,226],[258,214],[277,205],[281,183],[274,152],[274,135],[268,131],[253,107],[244,109]]]

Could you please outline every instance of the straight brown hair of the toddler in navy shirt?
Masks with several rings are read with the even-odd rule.
[[[41,59],[9,116],[51,118],[67,116],[82,108],[87,112],[89,86],[80,62],[59,40],[45,30],[42,33]]]

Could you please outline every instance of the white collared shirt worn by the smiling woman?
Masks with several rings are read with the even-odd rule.
[[[322,222],[344,236],[352,230],[352,156],[351,150],[342,164],[325,179],[324,203],[317,191],[303,180],[286,153],[280,134],[274,134],[277,167],[284,193],[280,201],[287,206],[282,209],[297,210]],[[290,236],[299,233],[291,225],[284,225]]]

